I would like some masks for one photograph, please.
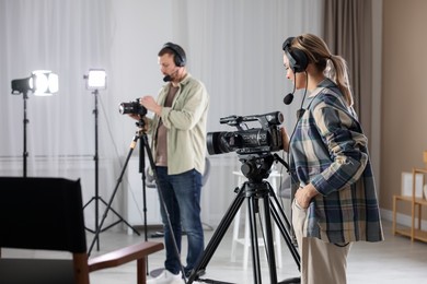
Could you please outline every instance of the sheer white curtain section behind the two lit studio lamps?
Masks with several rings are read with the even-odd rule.
[[[90,68],[109,70],[111,14],[108,0],[0,1],[2,176],[23,176],[26,144],[27,176],[81,179],[84,201],[95,196],[95,106],[83,75]],[[24,95],[11,94],[11,81],[28,78],[41,69],[58,74],[59,92],[53,96],[28,92],[25,111]],[[102,115],[104,94],[100,93]],[[104,127],[100,127],[99,137],[99,188],[109,194],[115,180],[115,166],[108,154],[113,151],[102,143],[106,138]],[[91,227],[92,212],[85,214]]]

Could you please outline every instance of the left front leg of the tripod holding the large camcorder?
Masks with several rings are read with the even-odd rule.
[[[204,273],[206,270],[206,267],[208,265],[210,259],[212,258],[215,251],[217,250],[220,241],[222,240],[223,236],[226,235],[227,229],[229,228],[231,222],[233,221],[235,214],[238,213],[240,206],[242,205],[244,201],[244,187],[243,185],[236,197],[234,198],[234,201],[231,203],[229,209],[227,210],[226,215],[222,217],[221,222],[218,225],[218,228],[215,230],[212,238],[210,239],[209,244],[205,248],[205,251],[198,261],[197,265],[193,270],[192,274],[188,277],[188,284],[193,283],[193,281],[197,280],[200,274]]]

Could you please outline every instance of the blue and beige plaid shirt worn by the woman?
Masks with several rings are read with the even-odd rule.
[[[357,116],[331,80],[312,92],[290,142],[292,192],[312,184],[308,237],[327,242],[380,241],[382,225]]]

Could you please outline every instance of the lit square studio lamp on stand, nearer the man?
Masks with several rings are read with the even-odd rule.
[[[96,234],[95,238],[94,238],[94,241],[96,241],[96,250],[99,251],[100,250],[100,238],[99,238],[99,234],[101,232],[104,232],[113,226],[115,226],[116,224],[120,223],[120,222],[124,222],[127,226],[129,226],[130,228],[134,229],[134,232],[136,234],[139,235],[139,233],[129,225],[129,223],[127,223],[125,221],[124,217],[122,217],[117,211],[115,211],[114,209],[111,208],[111,204],[108,204],[105,200],[103,200],[101,197],[100,197],[100,189],[99,189],[99,131],[97,131],[97,115],[99,115],[99,108],[97,108],[97,95],[100,94],[99,90],[105,90],[106,88],[106,73],[104,70],[95,70],[95,69],[91,69],[89,71],[89,74],[88,75],[83,75],[83,79],[86,80],[86,88],[88,90],[92,90],[92,94],[94,96],[94,109],[93,109],[93,115],[94,115],[94,119],[95,119],[95,154],[93,156],[93,159],[95,161],[95,196],[92,197],[88,203],[84,204],[83,206],[83,210],[90,204],[92,203],[92,201],[95,203],[95,227],[94,229],[90,229],[86,227],[86,229],[89,232],[91,232],[92,234]],[[104,203],[104,205],[106,205],[108,208],[108,210],[111,210],[117,217],[118,217],[118,221],[114,222],[113,224],[111,224],[109,226],[102,228],[102,224],[100,224],[99,222],[99,216],[100,216],[100,201],[102,203]],[[93,247],[93,244],[92,244],[92,247]],[[91,249],[92,249],[91,247]]]

